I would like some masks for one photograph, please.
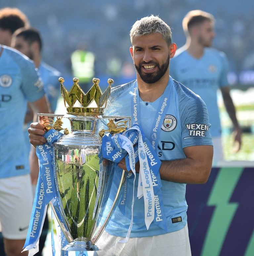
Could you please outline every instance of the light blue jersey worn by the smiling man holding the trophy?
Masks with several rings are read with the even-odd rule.
[[[135,81],[112,89],[105,115],[131,116],[131,100]],[[157,154],[160,160],[186,158],[183,148],[197,145],[212,145],[209,132],[209,118],[203,100],[182,84],[170,77],[167,85],[171,87],[170,95],[162,95],[169,100],[159,135]],[[161,98],[160,97],[160,98]],[[151,142],[150,131],[156,117],[160,98],[154,102],[144,102],[140,98],[141,127]],[[167,125],[170,123],[169,128]],[[130,237],[143,237],[164,234],[166,231],[152,222],[147,230],[144,216],[144,199],[138,199],[138,175],[135,181],[134,219]],[[113,188],[117,189],[118,177],[114,176]],[[127,179],[132,183],[133,179]],[[186,184],[162,180],[162,197],[169,232],[183,228],[187,223],[187,203],[185,200]],[[127,192],[128,193],[128,192]],[[106,231],[115,236],[125,237],[131,220],[132,193],[126,196],[125,211],[117,207]],[[174,220],[179,220],[175,222]],[[181,220],[181,221],[180,221]]]

